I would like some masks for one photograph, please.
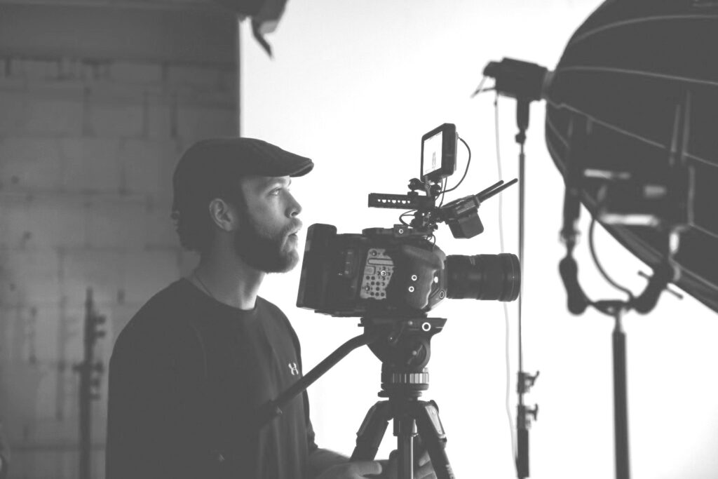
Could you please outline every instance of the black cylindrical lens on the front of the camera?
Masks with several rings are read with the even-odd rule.
[[[447,297],[513,301],[521,286],[521,266],[515,254],[449,255],[446,260]]]

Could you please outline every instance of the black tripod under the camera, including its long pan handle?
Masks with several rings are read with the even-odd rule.
[[[312,371],[261,406],[253,427],[260,428],[282,414],[282,408],[297,394],[317,381],[348,353],[368,345],[381,360],[379,401],[366,415],[351,460],[373,460],[390,419],[398,443],[398,479],[414,478],[414,439],[421,440],[432,460],[438,479],[455,479],[444,447],[447,442],[439,409],[434,401],[419,401],[421,391],[429,389],[426,365],[431,356],[431,338],[440,332],[447,320],[439,317],[406,319],[363,317],[362,335],[348,340],[327,356]],[[417,430],[418,428],[418,430]]]

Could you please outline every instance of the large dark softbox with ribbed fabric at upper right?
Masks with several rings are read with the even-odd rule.
[[[691,98],[687,164],[694,218],[681,236],[676,284],[718,312],[718,1],[609,0],[582,24],[546,94],[546,144],[566,173],[569,122],[592,118],[592,161],[650,178],[668,161],[676,105]],[[597,189],[582,188],[593,214]],[[651,228],[606,225],[645,263],[663,258]]]

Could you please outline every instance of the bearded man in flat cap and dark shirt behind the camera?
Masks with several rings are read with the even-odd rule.
[[[289,192],[311,159],[257,139],[194,144],[174,172],[172,218],[192,274],[119,335],[110,362],[107,479],[359,479],[393,462],[348,462],[314,443],[307,394],[264,425],[255,411],[302,376],[286,316],[258,296],[297,265],[302,207]],[[434,477],[424,455],[415,477]]]

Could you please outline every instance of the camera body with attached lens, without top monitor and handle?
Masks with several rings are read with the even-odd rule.
[[[521,266],[513,254],[444,254],[405,225],[337,234],[307,230],[297,306],[332,316],[424,317],[444,298],[513,301]]]

